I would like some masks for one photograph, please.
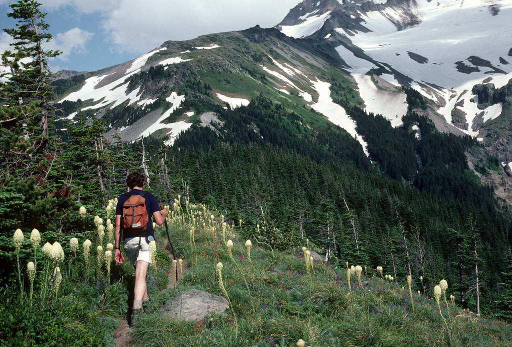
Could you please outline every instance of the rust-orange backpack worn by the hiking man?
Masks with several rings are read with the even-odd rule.
[[[125,193],[128,200],[123,204],[123,238],[136,237],[146,231],[150,220],[146,210],[145,191],[138,195]]]

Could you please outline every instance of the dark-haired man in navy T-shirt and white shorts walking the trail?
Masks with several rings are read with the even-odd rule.
[[[162,225],[167,216],[167,210],[160,209],[160,205],[158,205],[155,196],[142,190],[144,181],[144,176],[139,174],[139,172],[131,172],[126,177],[126,184],[130,187],[131,191],[122,194],[118,199],[116,206],[116,229],[114,234],[116,262],[122,264],[124,260],[124,255],[120,250],[120,231],[122,229],[124,252],[128,255],[130,263],[135,267],[133,301],[133,312],[135,315],[142,312],[142,302],[149,300],[149,296],[147,295],[146,273],[151,263],[151,254],[148,245],[151,241],[155,240],[151,215],[153,215],[158,225]],[[143,200],[136,196],[141,196]],[[130,201],[137,199],[139,202],[136,205],[139,206],[140,211],[144,211],[143,208],[140,208],[141,204],[145,207],[145,213],[140,212],[138,214],[144,214],[141,217],[142,219],[145,218],[146,222],[134,222],[134,215],[136,213],[134,212],[134,215],[131,215],[132,212],[127,210],[126,206],[130,204]],[[135,207],[133,211],[135,211],[136,208],[137,207]],[[127,220],[129,221],[126,222]],[[144,223],[147,223],[147,225],[144,226]]]

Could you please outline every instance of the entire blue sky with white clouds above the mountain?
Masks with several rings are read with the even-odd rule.
[[[0,0],[0,29],[13,28],[9,4]],[[167,40],[263,28],[280,23],[299,0],[39,0],[53,40],[63,52],[52,71],[96,71],[134,59]],[[11,38],[0,32],[0,53]]]

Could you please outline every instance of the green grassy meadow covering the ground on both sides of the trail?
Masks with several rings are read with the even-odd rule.
[[[247,231],[240,226],[223,228],[219,221],[220,213],[203,205],[180,208],[178,203],[170,213],[168,224],[174,248],[178,258],[186,262],[177,285],[171,289],[167,283],[174,269],[163,247],[165,228],[157,228],[156,262],[148,271],[151,300],[145,313],[134,321],[132,344],[293,346],[298,339],[310,346],[512,344],[509,322],[477,316],[453,303],[446,306],[443,299],[441,316],[430,292],[418,294],[422,287],[417,279],[413,279],[413,312],[409,291],[402,289],[407,288],[406,278],[382,279],[369,264],[361,264],[368,267],[368,273],[361,275],[368,286],[361,288],[352,275],[349,290],[344,267],[315,261],[308,270],[301,247],[279,251],[276,245],[259,243],[272,241],[252,236],[249,260],[246,238],[240,236]],[[194,230],[193,237],[190,230]],[[100,266],[97,263],[95,232],[84,231],[83,237],[93,240],[89,266],[84,266],[81,248],[74,258],[66,246],[58,295],[41,290],[45,288],[44,269],[46,265],[53,266],[41,252],[36,252],[39,272],[34,281],[32,307],[26,277],[23,295],[19,294],[19,286],[3,289],[0,346],[53,345],[56,340],[65,345],[114,344],[117,319],[125,318],[128,310],[133,268],[127,262],[113,264],[111,277],[107,278],[104,262]],[[231,256],[225,246],[227,240],[233,241]],[[306,246],[307,241],[296,240],[295,244]],[[66,243],[63,241],[62,245]],[[219,262],[223,263],[225,293],[216,271]],[[178,321],[161,311],[162,305],[191,288],[227,294],[231,307],[200,321]],[[450,290],[449,287],[448,296]]]

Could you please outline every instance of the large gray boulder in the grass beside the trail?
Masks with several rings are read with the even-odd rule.
[[[201,320],[208,312],[222,313],[229,309],[225,298],[197,289],[189,289],[167,302],[162,311],[178,320]]]

